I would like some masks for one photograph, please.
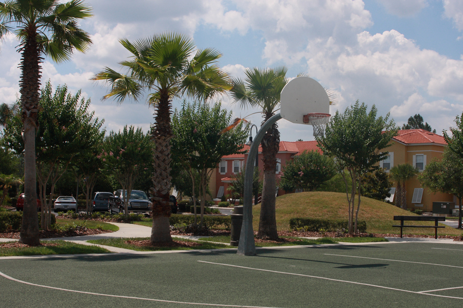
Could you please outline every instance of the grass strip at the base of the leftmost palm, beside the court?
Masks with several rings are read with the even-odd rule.
[[[9,256],[35,256],[35,255],[75,255],[75,254],[101,254],[109,253],[107,249],[98,246],[87,246],[66,241],[41,241],[42,243],[55,243],[57,246],[36,247],[0,247],[0,257]],[[11,242],[9,242],[11,243]],[[4,243],[2,243],[4,244]]]

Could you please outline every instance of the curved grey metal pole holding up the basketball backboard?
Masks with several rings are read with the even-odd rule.
[[[253,232],[253,173],[254,160],[259,150],[259,144],[265,133],[278,120],[281,119],[280,113],[273,115],[265,121],[259,129],[247,155],[246,171],[244,174],[244,196],[243,196],[243,224],[241,226],[240,241],[238,243],[238,255],[255,256],[256,245]],[[250,163],[251,162],[251,163]]]

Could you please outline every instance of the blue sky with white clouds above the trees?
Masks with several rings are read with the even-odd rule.
[[[309,74],[336,97],[330,112],[356,100],[375,104],[398,125],[420,113],[437,132],[463,111],[463,1],[461,0],[126,0],[86,1],[94,17],[83,21],[94,44],[65,64],[48,59],[42,83],[67,84],[92,99],[105,127],[146,131],[153,109],[141,102],[101,101],[108,88],[90,78],[105,66],[119,69],[129,54],[119,38],[137,40],[165,31],[189,35],[199,48],[223,53],[219,65],[234,77],[246,68],[288,67],[288,76]],[[20,55],[15,37],[0,43],[0,103],[19,95]],[[218,98],[234,115],[226,95]],[[180,100],[174,102],[180,106]],[[249,118],[260,124],[260,115]],[[281,140],[313,140],[312,128],[278,122]]]

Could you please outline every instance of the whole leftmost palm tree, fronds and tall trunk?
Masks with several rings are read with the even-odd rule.
[[[42,55],[48,55],[59,63],[70,59],[74,49],[85,51],[92,41],[90,35],[79,28],[78,21],[91,16],[91,7],[81,0],[67,3],[59,0],[0,2],[0,38],[14,30],[20,40],[20,102],[25,158],[25,200],[20,242],[24,244],[40,244],[35,187],[35,129],[39,125]]]

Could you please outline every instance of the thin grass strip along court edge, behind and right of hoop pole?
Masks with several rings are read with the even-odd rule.
[[[337,242],[349,242],[349,243],[369,243],[369,242],[387,242],[383,238],[372,238],[372,237],[355,237],[355,238],[319,238],[316,240],[288,237],[283,236],[281,238],[298,239],[298,241],[290,243],[259,243],[256,242],[256,247],[270,247],[270,246],[293,246],[293,245],[322,245],[322,244],[336,244]],[[219,242],[219,243],[230,243],[230,236],[221,235],[214,237],[200,238],[201,241]]]

